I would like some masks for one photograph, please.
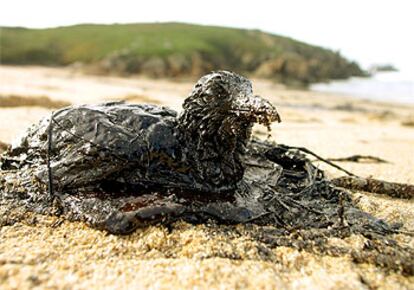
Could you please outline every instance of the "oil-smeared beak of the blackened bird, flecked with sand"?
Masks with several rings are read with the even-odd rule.
[[[280,115],[276,108],[260,96],[239,97],[234,103],[232,112],[243,116],[251,122],[270,125],[273,122],[281,122]]]

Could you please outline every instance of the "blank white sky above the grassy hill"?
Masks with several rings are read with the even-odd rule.
[[[339,50],[363,66],[392,63],[414,73],[411,0],[9,0],[0,26],[190,22],[260,29]]]

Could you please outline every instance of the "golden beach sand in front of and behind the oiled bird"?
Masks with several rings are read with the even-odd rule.
[[[0,96],[48,96],[72,104],[128,100],[179,110],[192,85],[192,81],[0,66]],[[283,122],[272,126],[272,138],[277,142],[305,146],[325,157],[374,155],[390,163],[342,165],[361,176],[414,183],[414,127],[409,126],[414,107],[288,90],[264,80],[254,80],[254,89],[271,100],[282,116]],[[0,141],[12,142],[50,112],[42,107],[0,108]],[[266,138],[264,128],[257,127],[255,134]],[[321,167],[331,176],[340,175]],[[403,222],[404,230],[414,231],[413,200],[366,193],[354,196],[364,210],[389,222]],[[414,289],[414,277],[355,264],[347,255],[269,249],[250,237],[249,226],[178,222],[172,228],[151,226],[119,237],[82,223],[34,214],[10,224],[0,228],[0,289]],[[395,238],[414,247],[412,237]],[[330,242],[361,247],[364,238]]]

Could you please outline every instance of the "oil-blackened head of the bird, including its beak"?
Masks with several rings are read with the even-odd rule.
[[[253,94],[252,83],[236,73],[217,71],[200,78],[185,100],[183,122],[201,129],[204,134],[217,130],[237,134],[254,123],[269,128],[280,122],[276,108],[267,100]]]

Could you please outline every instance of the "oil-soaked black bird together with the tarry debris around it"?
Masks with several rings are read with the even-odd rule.
[[[254,123],[278,120],[250,81],[229,72],[200,79],[181,115],[120,103],[63,109],[3,155],[0,225],[14,221],[12,211],[114,234],[177,220],[256,224],[252,238],[270,248],[350,255],[413,275],[413,249],[392,239],[399,225],[360,210],[300,150],[250,140]],[[328,243],[352,234],[367,239],[362,249]]]

